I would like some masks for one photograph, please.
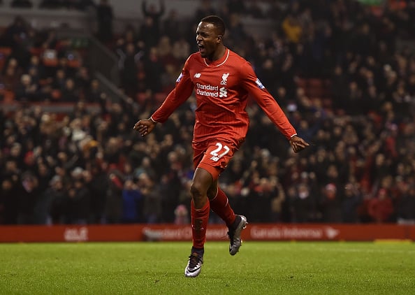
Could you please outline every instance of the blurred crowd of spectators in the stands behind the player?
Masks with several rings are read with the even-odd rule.
[[[235,213],[249,222],[414,223],[415,1],[380,15],[351,0],[271,1],[268,11],[259,2],[203,0],[181,20],[175,10],[164,15],[163,1],[143,1],[140,27],[105,34],[129,96],[119,101],[82,59],[73,64],[71,42],[17,17],[0,38],[12,49],[0,93],[18,102],[0,111],[0,224],[188,223],[195,99],[145,139],[132,127],[174,87],[196,50],[194,25],[210,14],[224,18],[225,44],[312,143],[293,154],[250,103],[247,142],[220,180]],[[248,34],[246,17],[274,29]],[[310,92],[311,83],[324,91]],[[73,111],[33,104],[45,101]]]

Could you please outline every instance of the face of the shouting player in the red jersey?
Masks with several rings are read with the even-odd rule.
[[[210,22],[200,22],[196,29],[196,43],[202,57],[212,59],[216,52],[222,36],[217,34],[217,30]]]

